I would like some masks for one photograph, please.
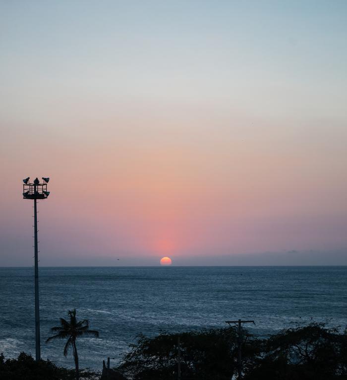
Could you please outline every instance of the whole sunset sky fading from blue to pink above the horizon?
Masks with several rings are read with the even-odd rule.
[[[346,1],[1,1],[0,266],[347,265]],[[119,260],[117,260],[119,259]]]

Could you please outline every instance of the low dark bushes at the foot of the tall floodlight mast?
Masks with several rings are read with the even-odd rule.
[[[18,359],[0,358],[1,380],[73,380],[75,371],[57,367],[49,360],[36,362],[30,355],[22,352]],[[100,374],[82,370],[80,380],[96,380]]]

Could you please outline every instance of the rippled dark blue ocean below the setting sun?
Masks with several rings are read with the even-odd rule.
[[[62,340],[46,344],[59,317],[77,310],[99,338],[80,338],[80,367],[116,365],[143,333],[223,328],[254,320],[266,335],[312,321],[347,324],[347,267],[64,267],[39,269],[41,354],[58,365]],[[0,352],[35,356],[34,269],[0,268]]]

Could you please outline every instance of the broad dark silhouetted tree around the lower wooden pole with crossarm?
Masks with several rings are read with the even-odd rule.
[[[139,337],[118,371],[134,380],[177,378],[177,334],[162,333],[155,338]],[[252,339],[244,336],[245,360],[253,354]],[[180,334],[181,378],[230,380],[237,366],[235,329],[203,330]]]

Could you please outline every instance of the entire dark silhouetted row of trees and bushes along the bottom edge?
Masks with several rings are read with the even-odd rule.
[[[181,380],[237,378],[236,329],[183,332],[179,337]],[[177,379],[177,338],[173,333],[139,336],[109,379]],[[243,330],[241,348],[244,380],[347,380],[346,331],[311,324],[259,338]],[[0,378],[68,380],[73,379],[73,372],[47,361],[35,363],[21,354],[18,359],[0,361]],[[98,375],[82,371],[82,378],[97,379]]]

